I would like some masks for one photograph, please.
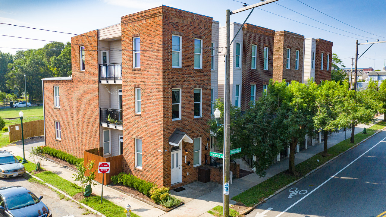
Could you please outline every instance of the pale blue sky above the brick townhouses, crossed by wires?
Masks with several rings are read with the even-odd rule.
[[[246,1],[247,4],[261,2],[260,0],[244,1]],[[280,0],[277,4],[270,3],[260,8],[289,19],[354,38],[316,29],[292,20],[284,19],[277,15],[269,14],[257,8],[248,19],[248,23],[260,25],[275,31],[286,30],[302,34],[305,37],[322,38],[332,41],[334,42],[333,53],[338,54],[338,56],[344,61],[347,68],[351,67],[350,57],[355,54],[356,39],[360,39],[359,42],[364,42],[362,39],[369,41],[375,41],[375,39],[379,39],[380,41],[386,40],[386,19],[384,19],[384,15],[386,14],[385,0],[300,1],[349,25],[378,36],[374,36],[342,24],[337,20],[327,17],[326,15],[303,5],[298,2],[298,0]],[[0,22],[82,34],[84,32],[117,24],[120,22],[121,16],[157,7],[162,4],[213,17],[214,20],[220,22],[221,26],[225,25],[226,9],[235,10],[242,7],[241,3],[232,0],[0,0]],[[311,17],[312,19],[361,36],[323,25],[302,15],[296,14],[291,10],[283,8],[280,5],[295,10],[296,12]],[[242,23],[248,13],[249,12],[241,12],[239,14],[232,15],[231,21]],[[67,42],[71,38],[71,35],[68,34],[51,33],[3,24],[0,24],[0,34],[60,42]],[[39,48],[44,46],[46,43],[48,42],[0,36],[0,47]],[[360,45],[359,55],[361,55],[367,47],[368,45]],[[17,51],[17,49],[3,48],[0,48],[0,50],[2,52],[10,53],[15,53]],[[374,59],[376,60],[374,61]],[[385,60],[386,43],[374,44],[369,51],[367,51],[366,54],[359,59],[358,67],[373,67],[375,69],[382,69]]]

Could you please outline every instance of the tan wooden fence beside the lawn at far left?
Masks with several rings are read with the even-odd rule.
[[[44,135],[44,120],[23,122],[24,139],[32,136]],[[9,142],[22,139],[22,125],[9,125]]]

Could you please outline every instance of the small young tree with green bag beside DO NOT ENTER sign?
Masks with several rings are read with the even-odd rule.
[[[93,170],[93,166],[95,165],[94,161],[89,161],[88,164],[85,165],[85,162],[76,164],[76,169],[78,169],[78,173],[73,174],[71,176],[75,181],[80,182],[80,186],[82,188],[82,193],[84,196],[91,195],[91,186],[97,185],[93,180],[95,179],[95,171]],[[88,171],[88,176],[85,175],[86,171]]]

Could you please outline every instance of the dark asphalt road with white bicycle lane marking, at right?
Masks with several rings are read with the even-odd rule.
[[[268,199],[247,217],[386,216],[385,169],[383,131]]]

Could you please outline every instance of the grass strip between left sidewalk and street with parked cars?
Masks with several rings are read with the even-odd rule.
[[[23,159],[20,156],[16,156],[17,159]],[[28,163],[23,164],[25,167],[25,170],[28,172],[31,172],[35,170],[36,164],[31,163],[28,161]],[[52,186],[55,186],[56,188],[62,190],[63,192],[66,192],[68,195],[73,197],[77,193],[82,192],[80,186],[71,183],[68,180],[65,180],[64,178],[56,175],[55,173],[52,173],[51,171],[44,171],[41,173],[33,174],[34,176],[37,176],[41,180],[45,181],[46,183],[49,183]],[[31,180],[34,181],[34,180]],[[91,207],[94,210],[97,210],[98,212],[102,213],[106,217],[125,217],[126,214],[124,212],[124,208],[114,204],[113,202],[106,200],[103,198],[103,204],[100,204],[100,196],[91,196],[86,197],[79,202],[84,203],[85,205]],[[134,213],[131,213],[131,216],[133,217],[140,217],[139,215],[136,215]]]

